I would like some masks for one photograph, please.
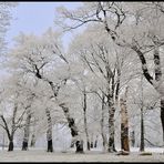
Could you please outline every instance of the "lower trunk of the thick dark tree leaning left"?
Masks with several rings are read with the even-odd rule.
[[[75,142],[75,146],[76,146],[75,152],[76,153],[84,153],[83,152],[83,141],[80,139],[79,131],[78,131],[78,127],[75,125],[74,119],[70,116],[69,107],[65,107],[64,105],[65,104],[62,103],[59,106],[62,107],[62,110],[64,112],[64,115],[65,115],[65,117],[68,120],[69,127],[71,130],[71,135],[74,139],[73,142]]]

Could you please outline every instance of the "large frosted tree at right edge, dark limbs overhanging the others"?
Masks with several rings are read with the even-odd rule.
[[[57,22],[64,30],[99,23],[116,45],[127,48],[139,57],[145,79],[161,95],[161,122],[164,131],[164,86],[160,51],[164,44],[161,28],[164,20],[163,2],[85,2],[75,10],[61,7],[58,11],[59,18],[63,20]],[[148,70],[146,55],[153,57],[154,70]]]

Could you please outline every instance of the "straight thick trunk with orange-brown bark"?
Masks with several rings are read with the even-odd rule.
[[[127,93],[127,88],[126,88],[124,98],[122,98],[120,100],[120,105],[121,105],[121,148],[123,151],[130,152],[126,93]]]

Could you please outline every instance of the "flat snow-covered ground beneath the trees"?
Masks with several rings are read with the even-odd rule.
[[[116,155],[100,151],[75,154],[73,151],[47,153],[45,150],[7,152],[0,151],[0,162],[164,162],[164,148],[146,148],[152,155],[140,155],[139,148],[131,150],[130,155]]]

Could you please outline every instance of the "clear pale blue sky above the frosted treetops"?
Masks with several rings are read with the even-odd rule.
[[[13,9],[11,25],[7,33],[9,47],[13,45],[12,38],[19,32],[41,34],[49,27],[54,27],[54,11],[57,7],[64,6],[74,9],[81,2],[19,2]],[[68,35],[64,37],[64,44],[68,42]]]

